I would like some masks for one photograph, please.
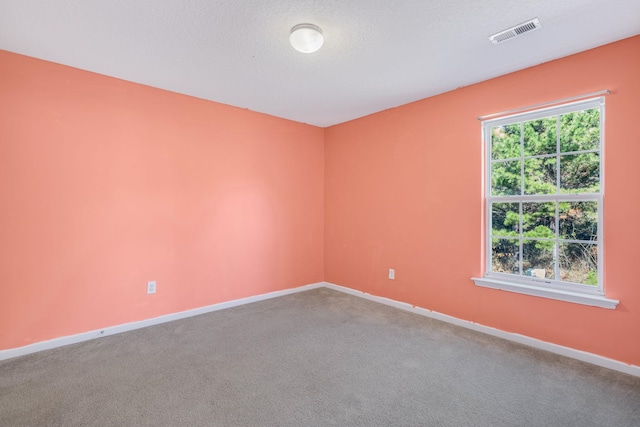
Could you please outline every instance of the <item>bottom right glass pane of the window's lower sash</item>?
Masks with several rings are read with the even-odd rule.
[[[560,279],[598,284],[598,246],[591,243],[560,243]]]

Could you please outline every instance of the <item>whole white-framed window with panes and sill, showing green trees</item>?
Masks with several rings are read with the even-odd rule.
[[[615,308],[604,297],[604,98],[484,121],[479,286]]]

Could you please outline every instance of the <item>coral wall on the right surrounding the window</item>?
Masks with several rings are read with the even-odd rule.
[[[640,365],[638,76],[640,36],[328,128],[325,280]],[[484,247],[477,117],[602,89],[612,91],[604,274],[617,309],[476,287]]]

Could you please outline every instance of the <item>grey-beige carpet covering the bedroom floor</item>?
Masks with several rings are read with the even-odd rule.
[[[320,288],[0,362],[0,426],[640,426],[640,378]]]

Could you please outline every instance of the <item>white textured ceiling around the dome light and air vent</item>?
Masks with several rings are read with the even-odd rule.
[[[639,33],[640,0],[0,0],[0,49],[322,127]]]

